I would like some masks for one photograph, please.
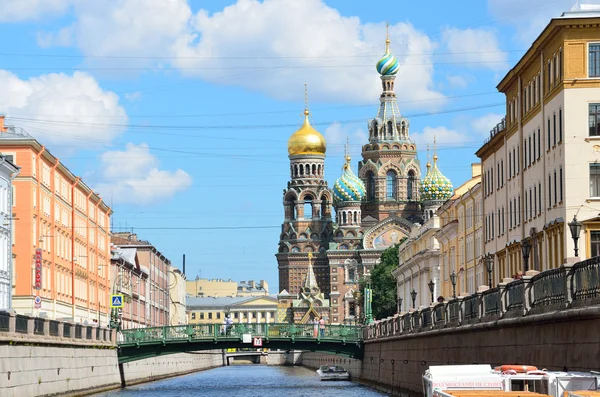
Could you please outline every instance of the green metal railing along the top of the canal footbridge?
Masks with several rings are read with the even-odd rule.
[[[264,339],[323,340],[358,342],[364,339],[360,326],[288,323],[186,324],[168,327],[135,328],[121,331],[119,344],[143,344],[157,341],[241,340],[244,335]]]

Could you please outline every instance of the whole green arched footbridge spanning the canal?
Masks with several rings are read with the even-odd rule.
[[[362,359],[360,326],[325,325],[315,336],[313,324],[188,324],[122,330],[118,339],[119,363],[187,351],[252,348],[307,350]],[[249,342],[248,342],[249,341]]]

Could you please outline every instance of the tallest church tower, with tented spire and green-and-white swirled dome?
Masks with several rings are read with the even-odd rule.
[[[390,216],[413,222],[420,220],[420,165],[417,145],[409,136],[409,121],[400,113],[394,82],[398,60],[390,53],[390,39],[385,41],[385,54],[377,62],[382,93],[379,111],[369,120],[369,142],[362,148],[359,177],[366,187],[363,200],[363,222],[375,224]]]

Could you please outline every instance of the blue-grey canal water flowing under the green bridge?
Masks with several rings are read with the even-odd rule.
[[[232,365],[97,394],[96,397],[375,397],[385,396],[348,381],[321,382],[304,367]]]

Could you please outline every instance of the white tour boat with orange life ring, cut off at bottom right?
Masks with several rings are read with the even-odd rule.
[[[453,395],[456,390],[480,391],[481,395],[497,391],[492,394],[507,397],[518,391],[566,397],[565,392],[597,391],[598,378],[592,373],[539,370],[530,365],[503,365],[494,369],[490,365],[439,365],[425,371],[426,397],[457,397]]]

